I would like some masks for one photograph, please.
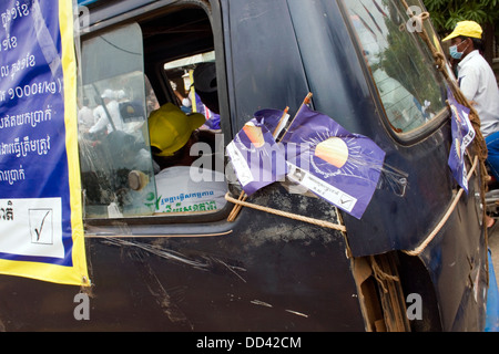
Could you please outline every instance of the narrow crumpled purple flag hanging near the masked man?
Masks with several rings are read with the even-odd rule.
[[[448,165],[459,186],[468,194],[468,173],[465,164],[466,148],[475,138],[475,129],[469,121],[469,108],[460,105],[448,91],[450,105],[452,145],[450,147]]]

